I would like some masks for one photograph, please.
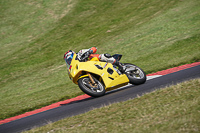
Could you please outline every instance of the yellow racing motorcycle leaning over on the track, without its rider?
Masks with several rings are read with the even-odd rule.
[[[113,57],[120,60],[122,55],[115,54]],[[139,85],[146,82],[146,74],[138,66],[124,63],[125,72],[122,73],[116,66],[108,62],[101,62],[97,57],[78,60],[76,53],[66,60],[69,78],[78,84],[79,88],[92,97],[103,96],[110,91],[131,83]]]

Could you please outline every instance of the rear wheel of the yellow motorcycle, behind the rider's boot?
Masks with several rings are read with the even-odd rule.
[[[131,71],[125,71],[131,84],[140,85],[146,82],[146,74],[141,68],[130,63],[125,63],[124,65],[126,66],[127,70],[132,69]]]

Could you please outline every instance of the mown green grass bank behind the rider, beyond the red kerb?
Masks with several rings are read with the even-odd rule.
[[[0,119],[83,94],[63,54],[92,46],[148,73],[200,61],[200,1],[1,0]]]

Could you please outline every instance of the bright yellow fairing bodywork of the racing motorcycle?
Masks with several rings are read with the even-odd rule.
[[[127,78],[127,76],[125,74],[119,75],[114,70],[111,63],[100,62],[98,61],[98,58],[95,57],[94,59],[91,59],[87,62],[79,62],[78,60],[75,60],[75,57],[76,55],[71,62],[71,70],[68,70],[69,77],[75,84],[78,84],[78,79],[80,75],[84,72],[99,75],[101,77],[101,80],[103,80],[105,89],[107,91],[124,86],[129,83],[129,79]],[[108,73],[108,69],[111,71],[110,73]]]

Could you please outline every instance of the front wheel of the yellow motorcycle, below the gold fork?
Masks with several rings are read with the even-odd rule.
[[[106,92],[103,84],[93,77],[95,84],[92,84],[92,81],[89,77],[83,77],[78,80],[79,88],[86,94],[92,97],[103,96]]]

